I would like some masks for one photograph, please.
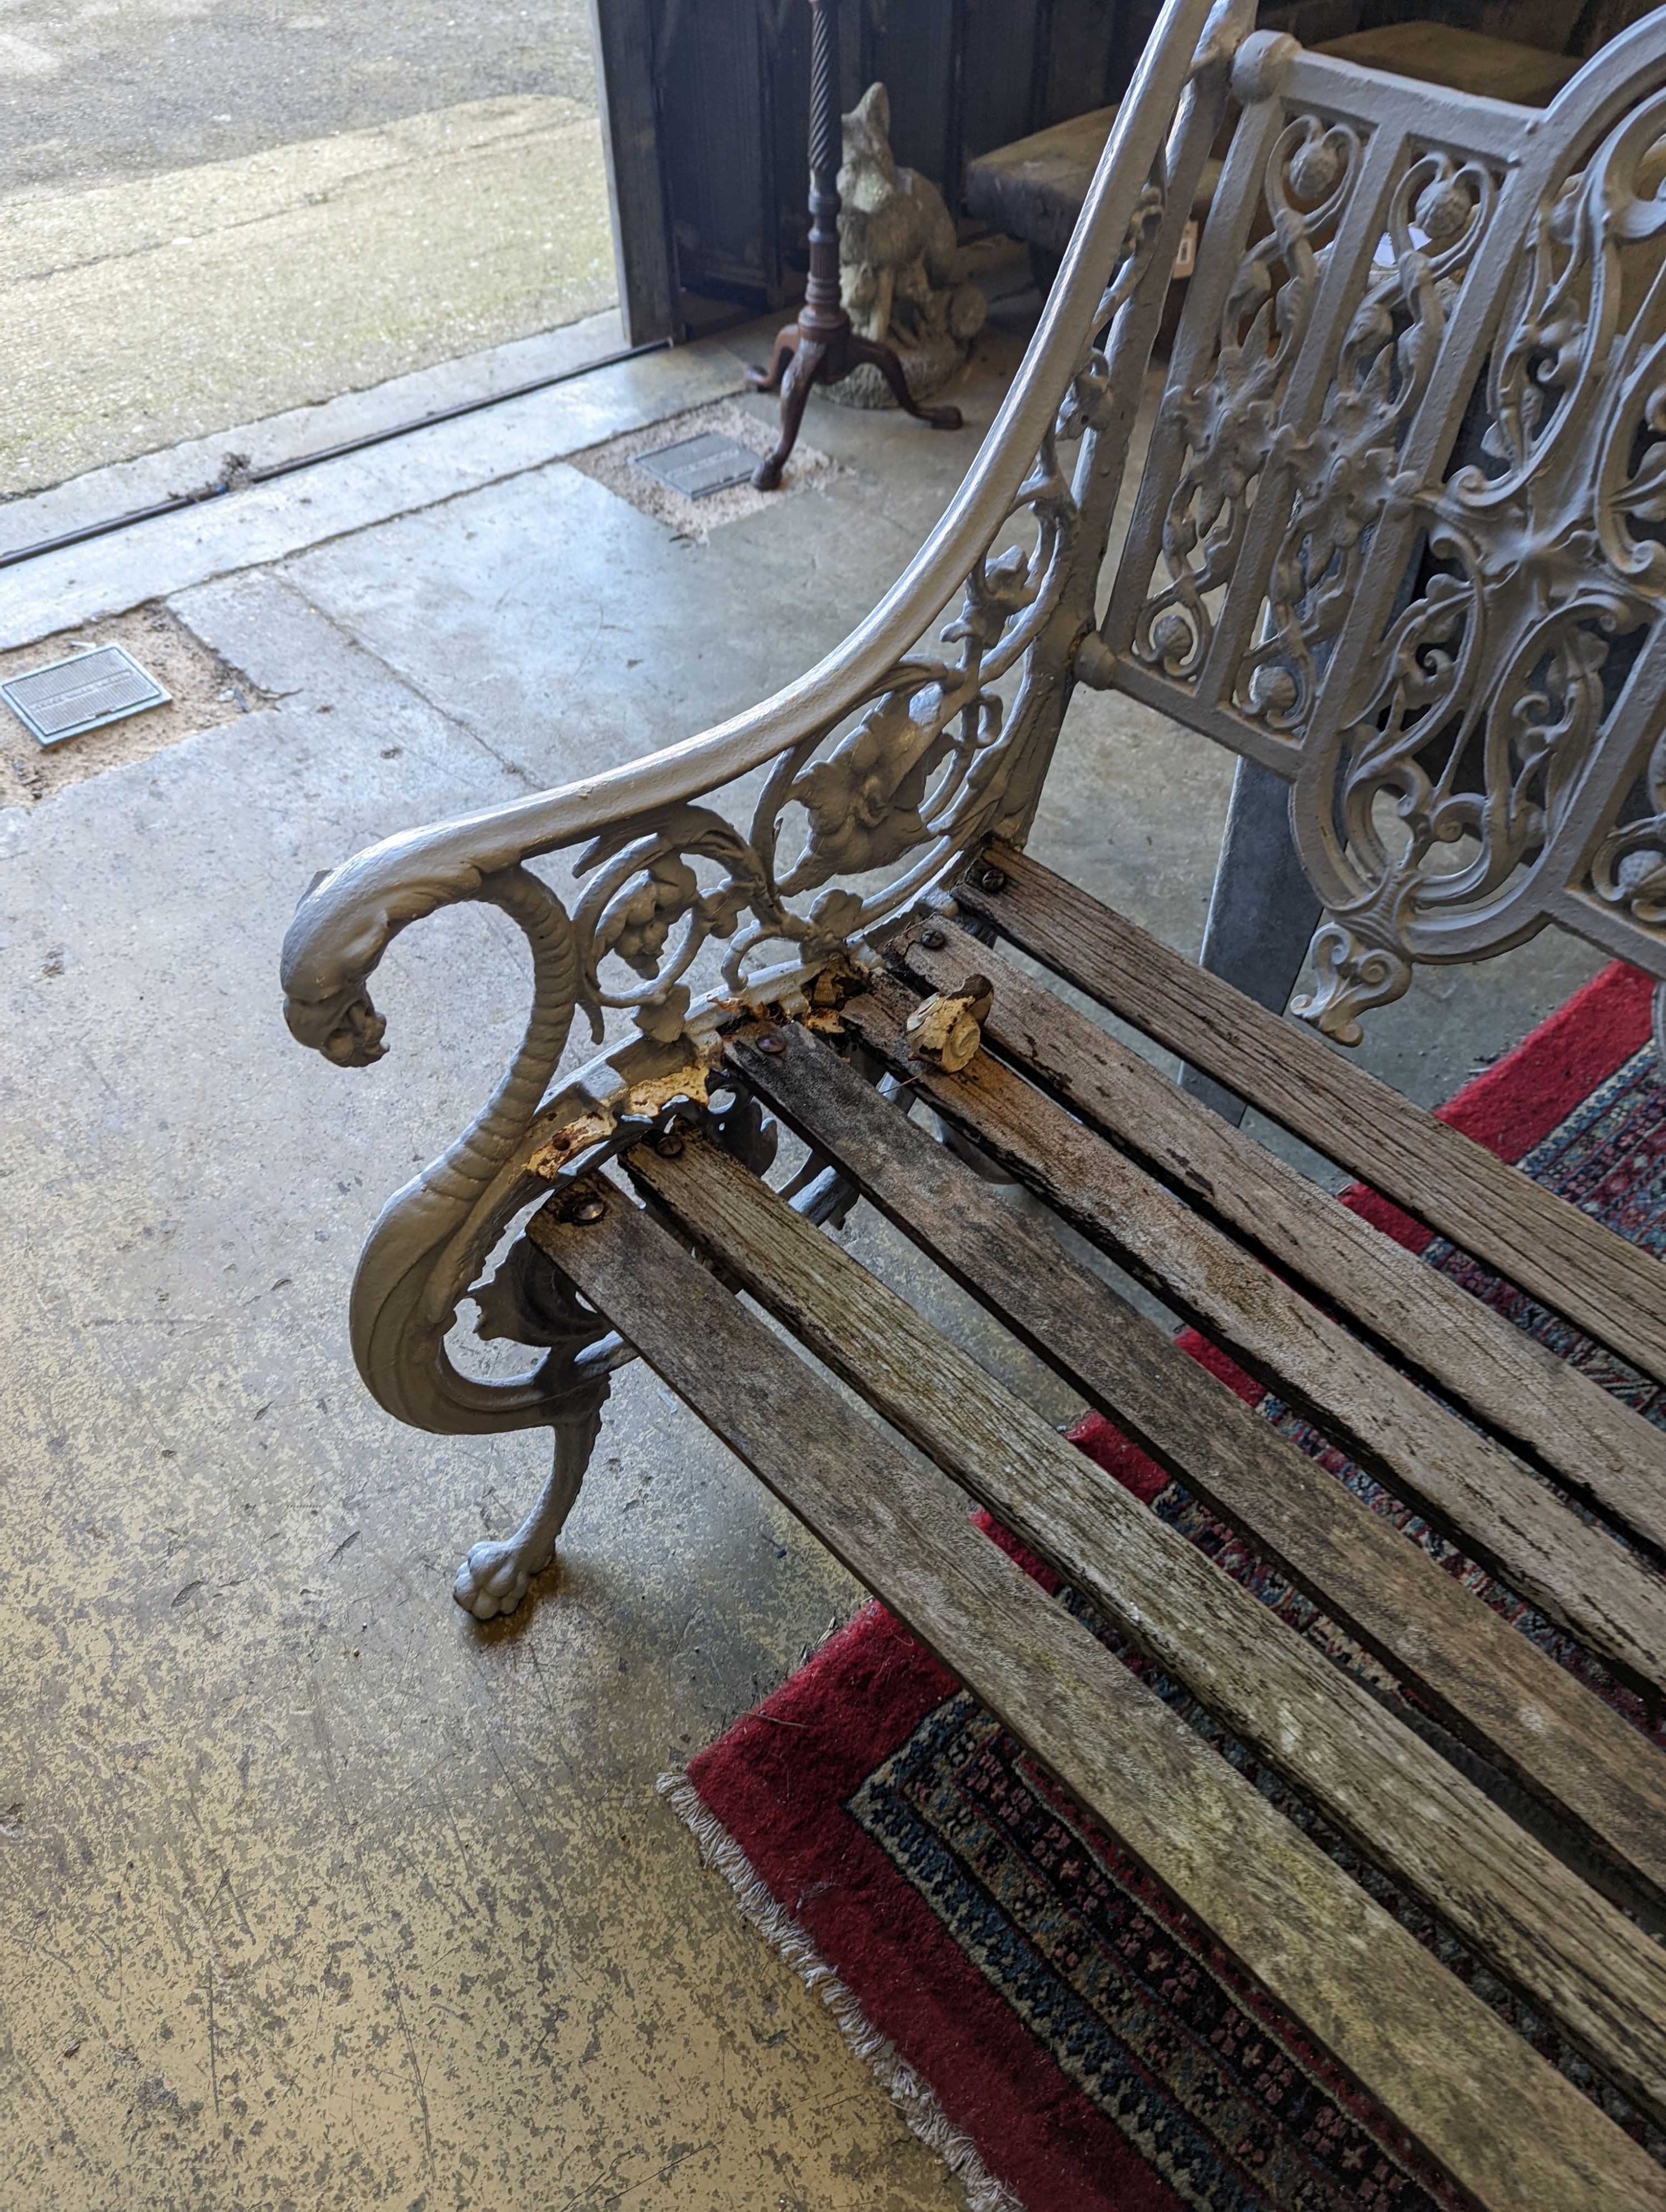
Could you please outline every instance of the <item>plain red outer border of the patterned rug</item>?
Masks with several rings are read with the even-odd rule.
[[[1438,1117],[1502,1159],[1520,1159],[1646,1042],[1651,993],[1648,975],[1613,962]],[[1343,1199],[1412,1250],[1429,1241],[1429,1230],[1370,1190],[1354,1186]],[[1224,1380],[1259,1396],[1230,1360],[1199,1349]],[[1142,1495],[1166,1480],[1122,1438],[1120,1451],[1093,1442],[1100,1449],[1091,1455]],[[843,1809],[863,1776],[956,1688],[947,1668],[870,1604],[699,1752],[688,1781],[870,2024],[1029,2212],[1184,2212]],[[989,2057],[998,2059],[993,2070]]]

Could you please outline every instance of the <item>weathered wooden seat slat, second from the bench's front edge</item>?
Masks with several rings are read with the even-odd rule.
[[[960,1164],[954,1170],[949,1201],[956,1181],[971,1179]],[[1133,1635],[1367,1858],[1527,1989],[1608,2079],[1646,2110],[1666,2112],[1666,1953],[1613,1905],[1365,1683],[1104,1478],[735,1161],[690,1146],[675,1161],[642,1152],[633,1172],[816,1358]]]

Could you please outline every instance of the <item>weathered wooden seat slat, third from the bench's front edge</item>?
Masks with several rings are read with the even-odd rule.
[[[845,1009],[847,1020],[858,1004]],[[783,1119],[1376,1652],[1445,1728],[1551,1803],[1597,1858],[1662,1907],[1666,1759],[1108,1285],[1073,1265],[1053,1237],[1018,1219],[834,1053],[801,1031],[783,1037],[788,1048],[774,1057],[730,1044],[735,1064]],[[987,1053],[973,1071],[1004,1073]],[[1204,1688],[1197,1694],[1210,1697]],[[1279,1723],[1272,1708],[1257,1719],[1250,1692],[1235,1725],[1266,1734]],[[1281,1754],[1270,1747],[1268,1756]],[[1367,1847],[1376,1851],[1381,1838]]]

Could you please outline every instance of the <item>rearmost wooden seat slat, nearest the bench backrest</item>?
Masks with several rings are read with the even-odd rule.
[[[1002,876],[1000,889],[985,874]],[[1124,1022],[1666,1380],[1666,1267],[1011,845],[956,898]]]

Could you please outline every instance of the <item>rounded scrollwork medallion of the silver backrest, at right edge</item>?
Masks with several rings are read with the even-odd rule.
[[[1347,945],[1303,1009],[1332,1035],[1398,998],[1443,936],[1524,933],[1511,925],[1657,619],[1666,549],[1633,526],[1666,513],[1659,310],[1653,288],[1631,312],[1624,294],[1633,248],[1666,237],[1666,206],[1637,190],[1666,102],[1642,117],[1538,212],[1491,347],[1478,458],[1460,449],[1443,482],[1403,493],[1423,580],[1336,745],[1336,827],[1363,887],[1332,905],[1327,936]],[[1608,838],[1591,880],[1648,925],[1637,832]]]

